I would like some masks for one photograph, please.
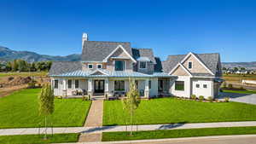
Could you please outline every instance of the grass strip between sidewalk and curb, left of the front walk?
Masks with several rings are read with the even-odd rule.
[[[6,135],[0,136],[1,144],[41,144],[77,142],[79,134],[55,134],[48,135],[48,140],[43,140],[44,135]]]

